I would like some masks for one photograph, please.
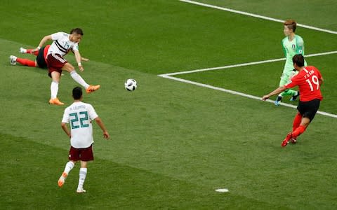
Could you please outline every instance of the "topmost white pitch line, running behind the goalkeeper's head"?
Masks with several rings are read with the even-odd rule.
[[[215,9],[218,9],[218,10],[225,10],[227,12],[237,13],[237,14],[241,14],[241,15],[247,15],[247,16],[251,16],[251,17],[254,17],[254,18],[271,20],[271,21],[275,21],[275,22],[284,22],[284,20],[269,18],[269,17],[263,16],[263,15],[256,15],[256,14],[253,14],[253,13],[246,13],[246,12],[242,12],[242,11],[239,11],[239,10],[232,10],[230,8],[224,8],[224,7],[221,7],[221,6],[214,6],[214,5],[207,4],[207,3],[200,3],[200,2],[197,2],[197,1],[190,1],[190,0],[179,0],[179,1],[183,1],[185,3],[193,3],[193,4],[196,4],[196,5],[205,6],[205,7],[208,7],[208,8],[215,8]],[[297,24],[297,25],[300,26],[300,27],[303,27],[303,28],[307,28],[307,29],[312,29],[312,30],[316,30],[316,31],[324,31],[324,32],[329,33],[329,34],[337,34],[337,31],[320,29],[320,28],[317,28],[317,27],[312,27],[312,26],[303,25],[303,24]]]

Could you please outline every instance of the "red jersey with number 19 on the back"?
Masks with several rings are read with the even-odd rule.
[[[305,66],[302,71],[291,78],[291,83],[284,85],[284,87],[291,88],[298,85],[301,102],[309,102],[313,99],[322,101],[323,97],[319,84],[321,78],[322,75],[315,66]]]

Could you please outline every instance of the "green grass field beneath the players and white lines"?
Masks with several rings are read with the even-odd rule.
[[[337,31],[330,0],[199,0]],[[69,5],[72,3],[72,6]],[[336,209],[337,119],[317,114],[298,144],[281,148],[296,110],[157,75],[283,57],[283,25],[176,0],[1,2],[0,209]],[[55,11],[55,12],[53,12]],[[53,15],[51,15],[53,14]],[[43,36],[84,29],[85,94],[108,128],[94,125],[95,161],[75,193],[79,165],[57,181],[69,139],[66,106],[51,106],[46,70],[9,63]],[[337,34],[298,27],[305,54],[337,50]],[[308,57],[322,71],[320,111],[337,114],[336,54]],[[74,57],[67,55],[74,63]],[[177,75],[253,96],[274,90],[284,61]],[[138,89],[124,90],[135,78]],[[62,76],[58,97],[77,83]],[[286,102],[286,99],[284,100]],[[296,102],[286,102],[296,105]],[[227,188],[228,193],[215,192]]]

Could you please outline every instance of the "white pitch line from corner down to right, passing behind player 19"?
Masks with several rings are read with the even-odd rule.
[[[236,94],[236,95],[239,95],[239,96],[242,96],[242,97],[247,97],[249,99],[256,99],[256,100],[262,101],[262,97],[256,97],[256,96],[253,96],[251,94],[245,94],[245,93],[237,92],[237,91],[234,91],[234,90],[227,90],[227,89],[221,88],[221,87],[215,87],[215,86],[212,86],[212,85],[197,83],[197,82],[194,82],[194,81],[191,81],[191,80],[185,80],[185,79],[182,79],[182,78],[176,78],[176,77],[173,77],[173,76],[169,76],[167,74],[160,74],[158,76],[160,76],[162,78],[168,78],[168,79],[171,79],[171,80],[177,80],[177,81],[182,82],[182,83],[189,83],[189,84],[197,85],[197,86],[200,86],[200,87],[207,87],[207,88],[210,88],[210,89],[213,89],[213,90],[220,90],[222,92],[227,92],[227,93],[230,93],[230,94]],[[265,102],[270,102],[270,103],[274,104],[274,101],[272,101],[270,99],[267,99]],[[288,106],[288,107],[291,107],[293,109],[297,109],[297,106],[294,106],[292,104],[285,104],[285,103],[281,102],[281,105],[282,106]],[[337,115],[332,114],[332,113],[327,113],[327,112],[324,112],[324,111],[317,111],[317,113],[322,115],[322,116],[329,116],[331,118],[337,118]]]

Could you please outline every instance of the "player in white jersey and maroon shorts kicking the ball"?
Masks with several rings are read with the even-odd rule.
[[[37,49],[32,50],[32,52],[39,50],[46,41],[52,40],[53,43],[51,47],[48,49],[46,55],[46,62],[48,65],[48,75],[52,78],[51,82],[51,99],[49,100],[49,104],[55,105],[63,105],[64,103],[60,102],[58,99],[58,84],[60,83],[60,76],[62,70],[68,71],[70,76],[86,88],[86,92],[91,93],[100,88],[100,85],[88,85],[86,81],[75,71],[74,66],[67,62],[64,55],[67,54],[69,50],[72,50],[75,55],[75,59],[79,66],[79,71],[84,71],[84,68],[81,64],[81,55],[79,54],[79,41],[83,36],[82,29],[76,28],[72,29],[70,34],[65,32],[58,32],[55,34],[51,34],[48,36],[44,36]]]

